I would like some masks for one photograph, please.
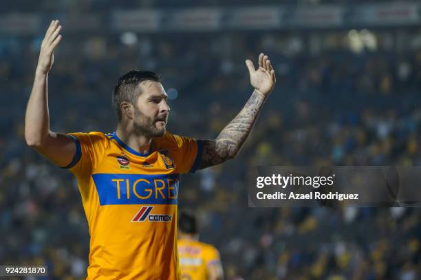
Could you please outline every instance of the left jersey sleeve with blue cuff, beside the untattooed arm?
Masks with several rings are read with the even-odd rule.
[[[76,145],[72,162],[66,167],[76,177],[90,176],[105,151],[105,135],[100,132],[76,132],[67,134]]]

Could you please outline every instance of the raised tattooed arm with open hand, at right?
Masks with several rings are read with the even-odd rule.
[[[238,154],[274,87],[276,78],[268,56],[259,55],[259,69],[257,70],[250,60],[246,60],[246,65],[250,73],[250,83],[255,90],[244,108],[219,133],[217,139],[204,140],[202,160],[197,170],[224,163]]]

